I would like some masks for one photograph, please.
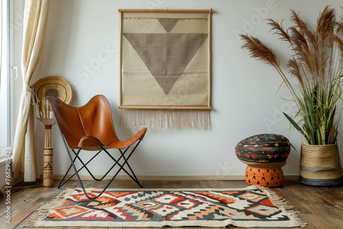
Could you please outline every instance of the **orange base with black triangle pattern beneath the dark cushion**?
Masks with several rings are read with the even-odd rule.
[[[277,187],[285,184],[281,168],[259,168],[248,165],[245,177],[246,182],[252,185]]]

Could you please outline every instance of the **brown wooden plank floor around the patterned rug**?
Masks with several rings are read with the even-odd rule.
[[[241,188],[248,184],[244,181],[141,181],[146,189],[184,189],[184,188]],[[11,189],[10,224],[5,223],[6,196],[0,196],[0,228],[21,228],[34,210],[51,200],[64,189],[78,187],[78,182],[69,181],[62,189],[57,189],[56,181],[53,188],[43,188],[40,183],[16,186]],[[93,181],[86,182],[86,187],[97,187]],[[101,186],[101,185],[100,185]],[[114,181],[113,188],[137,188],[137,184],[129,180]],[[343,228],[343,187],[320,188],[304,186],[297,181],[287,181],[285,185],[273,189],[284,197],[298,217],[307,223],[305,228],[336,229]],[[190,227],[187,227],[190,228]],[[49,228],[51,229],[51,228]],[[83,229],[83,228],[82,228]]]

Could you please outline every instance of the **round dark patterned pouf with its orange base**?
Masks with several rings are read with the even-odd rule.
[[[280,134],[258,134],[240,141],[236,156],[244,162],[246,182],[276,187],[285,183],[281,167],[286,165],[290,152],[289,140]]]

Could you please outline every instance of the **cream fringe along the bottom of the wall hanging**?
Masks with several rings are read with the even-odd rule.
[[[121,109],[121,128],[211,128],[210,110]]]

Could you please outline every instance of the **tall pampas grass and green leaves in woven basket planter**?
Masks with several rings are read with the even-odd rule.
[[[286,75],[274,51],[258,38],[241,34],[242,48],[248,49],[253,58],[271,64],[296,101],[295,114],[284,114],[307,142],[301,146],[299,181],[315,186],[339,186],[343,184],[337,145],[342,111],[339,101],[343,77],[343,22],[338,23],[335,10],[329,6],[320,13],[313,31],[294,10],[291,10],[290,21],[294,25],[287,29],[272,19],[268,19],[268,24],[273,34],[289,43],[294,51],[287,68],[296,84]]]

